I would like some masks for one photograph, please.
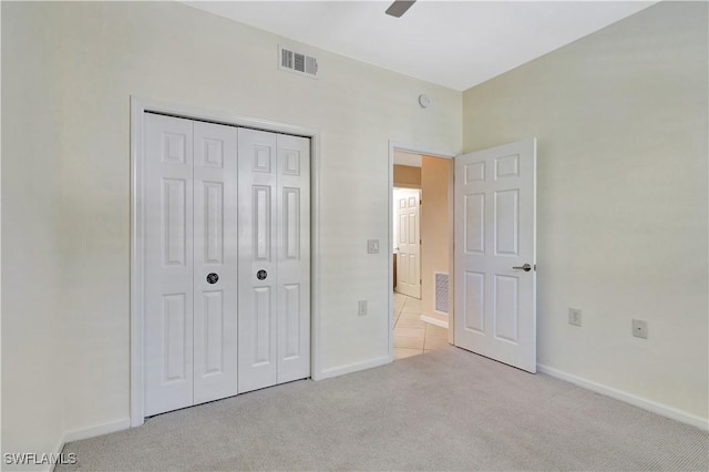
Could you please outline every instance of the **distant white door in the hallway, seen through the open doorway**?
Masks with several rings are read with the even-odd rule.
[[[397,191],[397,291],[414,298],[421,298],[420,204],[420,191]]]

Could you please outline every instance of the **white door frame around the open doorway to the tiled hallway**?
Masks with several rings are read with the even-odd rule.
[[[388,301],[388,317],[387,317],[387,332],[388,332],[388,342],[389,342],[389,361],[393,362],[394,360],[394,325],[393,325],[393,317],[392,317],[392,312],[394,309],[394,290],[393,290],[393,257],[391,257],[391,255],[393,254],[394,250],[394,246],[393,246],[393,189],[394,189],[394,151],[403,151],[403,152],[408,152],[408,153],[414,153],[414,154],[420,154],[420,155],[424,155],[424,156],[430,156],[430,157],[441,157],[441,158],[449,158],[449,160],[453,160],[454,157],[461,155],[461,152],[446,152],[446,151],[433,151],[430,148],[425,148],[422,146],[417,146],[417,145],[410,145],[410,144],[404,144],[404,143],[400,143],[393,140],[389,140],[389,230],[387,232],[388,234],[388,243],[387,243],[387,268],[389,270],[389,274],[387,276],[387,280],[388,280],[388,287],[389,287],[389,301]],[[455,234],[453,232],[453,215],[454,215],[454,202],[453,202],[453,197],[455,196],[455,188],[454,188],[454,175],[455,175],[455,165],[451,165],[450,166],[450,172],[449,172],[449,178],[448,178],[448,230],[449,230],[449,279],[448,279],[448,287],[449,287],[449,315],[448,315],[448,322],[449,322],[449,327],[448,327],[448,340],[450,343],[454,343],[454,310],[455,310],[455,304],[454,304],[454,296],[455,293],[453,290],[453,287],[455,287],[455,280],[454,280],[454,252],[453,252],[453,242],[454,242],[454,237]],[[423,198],[423,196],[421,197]]]

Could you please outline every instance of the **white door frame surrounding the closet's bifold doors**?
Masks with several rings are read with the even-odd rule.
[[[287,123],[234,115],[131,95],[131,328],[130,328],[130,410],[131,427],[143,424],[144,417],[144,271],[145,202],[143,130],[145,112],[250,127],[271,133],[310,138],[310,377],[319,380],[320,363],[320,131]],[[390,197],[391,198],[391,197]],[[390,208],[391,212],[391,208]],[[391,242],[390,242],[391,244]],[[391,277],[391,276],[390,276]],[[390,301],[391,302],[391,301]]]

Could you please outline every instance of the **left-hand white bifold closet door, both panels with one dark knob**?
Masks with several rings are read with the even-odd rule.
[[[146,113],[145,415],[237,392],[236,129]]]

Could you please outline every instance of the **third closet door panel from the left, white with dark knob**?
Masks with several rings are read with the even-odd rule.
[[[276,136],[238,130],[239,393],[277,383]]]

